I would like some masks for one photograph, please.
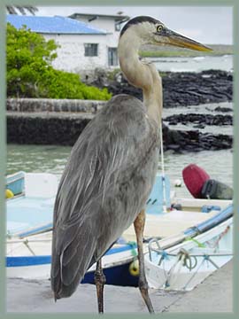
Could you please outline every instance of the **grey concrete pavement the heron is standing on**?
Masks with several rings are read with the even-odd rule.
[[[232,312],[233,285],[230,261],[215,271],[191,292],[165,292],[150,289],[150,298],[156,313],[161,312]],[[73,296],[53,300],[50,281],[7,280],[9,313],[96,313],[96,288],[80,284]],[[138,288],[105,285],[105,313],[147,313]]]

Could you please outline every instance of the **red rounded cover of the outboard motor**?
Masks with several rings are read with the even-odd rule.
[[[196,164],[189,164],[182,170],[182,177],[189,192],[194,198],[202,198],[201,191],[204,183],[210,179],[210,176],[202,167]]]

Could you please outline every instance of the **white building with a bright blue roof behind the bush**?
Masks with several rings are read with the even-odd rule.
[[[79,13],[73,16],[75,19],[10,14],[7,15],[7,22],[17,28],[26,25],[46,40],[55,40],[60,45],[58,58],[52,63],[55,68],[84,75],[96,67],[117,67],[120,21],[128,18],[101,16],[94,19],[96,15],[84,14],[80,21]]]

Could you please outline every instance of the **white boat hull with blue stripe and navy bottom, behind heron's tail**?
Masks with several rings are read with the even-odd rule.
[[[29,237],[12,237],[7,240],[7,277],[25,279],[49,279],[51,260],[51,231]],[[134,275],[136,246],[118,242],[102,259],[107,284],[137,285]],[[94,283],[96,264],[89,268],[82,283]]]

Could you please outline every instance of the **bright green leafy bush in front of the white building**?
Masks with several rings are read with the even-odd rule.
[[[107,89],[82,83],[78,74],[54,69],[58,45],[27,27],[7,25],[7,96],[107,100]]]

